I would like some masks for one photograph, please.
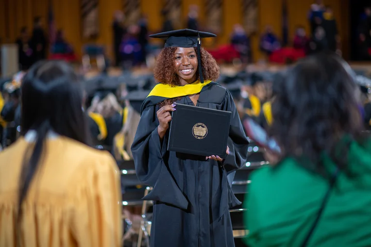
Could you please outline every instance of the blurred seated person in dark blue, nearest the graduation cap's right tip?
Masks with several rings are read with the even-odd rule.
[[[250,39],[242,25],[236,24],[233,29],[231,44],[238,51],[242,63],[251,61]]]

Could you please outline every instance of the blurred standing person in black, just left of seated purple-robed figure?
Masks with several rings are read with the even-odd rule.
[[[115,55],[115,66],[121,65],[121,54],[120,54],[120,45],[122,38],[125,34],[125,28],[123,26],[124,14],[122,11],[116,11],[114,15],[114,20],[112,23],[113,30],[113,49]]]

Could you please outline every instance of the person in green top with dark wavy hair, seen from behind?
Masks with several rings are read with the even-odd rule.
[[[316,54],[291,68],[281,89],[269,132],[282,151],[267,152],[272,164],[250,177],[246,244],[370,247],[371,139],[352,69]]]

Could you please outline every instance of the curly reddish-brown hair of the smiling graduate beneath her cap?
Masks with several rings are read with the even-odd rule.
[[[162,49],[157,57],[154,67],[154,79],[156,82],[170,85],[180,85],[179,77],[174,68],[174,53],[176,47],[166,47]],[[197,50],[195,48],[196,54]],[[219,78],[219,65],[214,57],[201,48],[201,63],[203,79],[215,81]],[[199,71],[197,71],[197,79],[200,80]]]

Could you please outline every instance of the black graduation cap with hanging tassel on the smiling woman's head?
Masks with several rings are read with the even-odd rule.
[[[183,47],[183,48],[197,47],[197,58],[199,62],[199,74],[201,83],[203,83],[200,50],[201,39],[216,36],[217,35],[214,33],[201,32],[192,29],[180,29],[150,35],[151,38],[165,39],[166,40],[165,47]]]

